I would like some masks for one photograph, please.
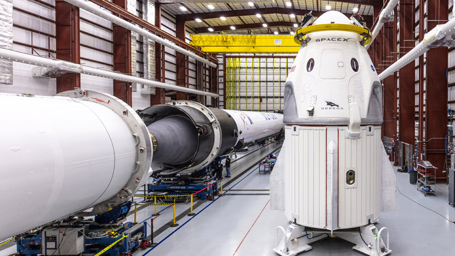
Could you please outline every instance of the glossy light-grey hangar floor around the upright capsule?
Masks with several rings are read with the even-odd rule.
[[[181,215],[179,226],[165,229],[154,238],[158,246],[138,250],[134,256],[278,255],[272,251],[276,227],[286,228],[288,220],[283,212],[269,209],[269,174],[259,174],[256,167],[247,170],[247,166],[275,148],[267,145],[254,154],[239,154],[232,164],[233,178],[223,179],[228,184],[225,196],[199,202],[193,217],[183,214],[189,204],[176,205],[176,216]],[[247,172],[239,176],[244,170]],[[377,224],[378,228],[386,226],[390,230],[391,255],[455,255],[455,224],[445,219],[455,221],[455,209],[448,205],[447,186],[437,185],[435,197],[424,197],[416,185],[409,183],[407,173],[396,173],[396,178],[397,210],[384,212]],[[158,211],[162,215],[154,220],[155,231],[172,219],[172,208],[158,206]],[[153,206],[141,209],[137,221],[150,222],[153,212]],[[133,221],[133,215],[128,221]],[[363,255],[352,250],[352,243],[339,238],[325,238],[311,246],[312,250],[299,255]],[[11,246],[2,250],[0,256],[14,253],[14,249]]]

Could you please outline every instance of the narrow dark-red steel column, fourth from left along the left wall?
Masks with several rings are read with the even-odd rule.
[[[185,40],[185,21],[175,20],[175,35],[180,40]],[[187,84],[187,58],[184,54],[175,52],[176,59],[176,80],[177,86],[188,87]],[[176,100],[188,100],[188,94],[184,92],[177,92]]]

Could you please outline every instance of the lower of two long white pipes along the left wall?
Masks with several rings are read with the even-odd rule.
[[[215,98],[219,97],[218,94],[214,94],[214,93],[203,92],[203,91],[190,89],[190,88],[186,88],[186,87],[174,86],[172,84],[167,84],[164,82],[158,82],[158,81],[149,80],[149,79],[132,76],[132,75],[125,75],[122,73],[117,73],[117,72],[105,70],[105,69],[88,67],[88,66],[68,62],[68,61],[49,59],[49,58],[45,58],[45,57],[21,53],[21,52],[8,50],[8,49],[4,49],[4,48],[0,48],[0,59],[22,62],[22,63],[26,63],[26,64],[30,64],[30,65],[43,66],[43,67],[49,67],[49,68],[61,68],[64,70],[68,70],[70,72],[87,74],[87,75],[95,75],[95,76],[106,77],[106,78],[111,78],[111,79],[116,79],[116,80],[121,80],[121,81],[126,81],[126,82],[137,82],[137,83],[141,83],[141,84],[149,84],[151,86],[163,88],[163,89],[167,89],[167,90],[193,93],[193,94],[199,94],[199,95],[215,97]]]

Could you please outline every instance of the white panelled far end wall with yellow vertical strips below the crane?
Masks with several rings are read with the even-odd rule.
[[[222,63],[219,65],[220,107],[283,110],[284,84],[295,56],[225,55],[218,59]]]

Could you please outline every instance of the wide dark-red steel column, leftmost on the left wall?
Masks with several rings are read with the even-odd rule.
[[[55,2],[57,59],[80,64],[79,8],[57,0]],[[57,77],[57,93],[80,88],[80,74],[66,73]]]

